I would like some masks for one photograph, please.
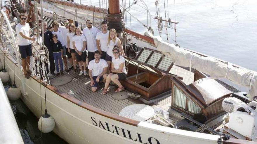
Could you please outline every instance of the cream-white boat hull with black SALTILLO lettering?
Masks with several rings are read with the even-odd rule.
[[[0,55],[4,63],[3,48]],[[11,56],[5,57],[5,67],[14,80],[14,61]],[[16,65],[16,85],[21,88],[23,75]],[[22,101],[38,118],[41,117],[40,83],[32,77],[25,79],[26,95]],[[49,87],[51,88],[51,86]],[[105,112],[84,102],[46,87],[46,102],[48,113],[55,119],[54,132],[68,143],[148,143],[148,144],[198,144],[217,143],[219,136],[191,131],[173,129],[147,122],[137,122]],[[53,88],[53,87],[52,87]],[[22,91],[22,94],[24,92]],[[60,95],[59,95],[60,94]],[[62,95],[62,96],[61,96]],[[68,99],[65,99],[66,95]],[[41,85],[42,111],[45,110],[44,86]],[[76,104],[77,103],[77,104]],[[118,120],[112,118],[116,117]],[[122,121],[122,122],[121,122]]]

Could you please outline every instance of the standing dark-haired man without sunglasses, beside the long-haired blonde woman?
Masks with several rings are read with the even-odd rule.
[[[99,31],[96,35],[96,47],[98,51],[100,51],[100,55],[102,59],[105,59],[106,56],[106,51],[108,49],[108,36],[109,36],[109,31],[108,31],[108,24],[106,21],[103,21],[102,24],[102,31]]]

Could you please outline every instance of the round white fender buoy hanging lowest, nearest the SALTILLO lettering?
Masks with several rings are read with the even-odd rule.
[[[42,127],[41,127],[41,123],[42,123]],[[42,133],[48,133],[52,131],[53,128],[55,127],[55,121],[53,117],[49,115],[47,111],[45,111],[45,114],[39,118],[37,127]]]

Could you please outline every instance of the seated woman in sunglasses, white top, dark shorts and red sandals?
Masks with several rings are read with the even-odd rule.
[[[108,74],[106,81],[105,81],[105,88],[102,92],[102,95],[107,93],[107,88],[110,82],[114,82],[119,86],[115,93],[124,90],[124,87],[121,85],[119,81],[124,80],[127,78],[127,71],[125,68],[125,59],[123,56],[120,55],[120,49],[117,45],[114,46],[112,49],[113,57],[112,57],[112,73]]]

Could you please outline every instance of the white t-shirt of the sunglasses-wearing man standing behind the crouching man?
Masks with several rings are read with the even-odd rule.
[[[83,29],[83,35],[85,35],[86,37],[86,49],[87,51],[90,52],[95,52],[97,51],[97,47],[96,47],[96,34],[99,32],[100,30],[97,29],[96,27],[92,26],[92,28],[89,30],[87,27],[85,29]]]

